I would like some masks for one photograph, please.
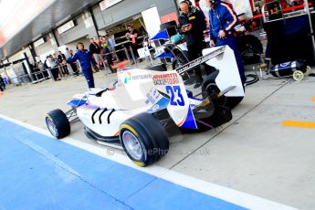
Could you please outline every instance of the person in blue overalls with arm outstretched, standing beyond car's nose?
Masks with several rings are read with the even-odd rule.
[[[99,65],[96,63],[95,59],[93,58],[92,54],[84,48],[82,43],[78,43],[77,45],[78,51],[72,57],[68,58],[67,60],[63,61],[63,64],[71,64],[79,60],[79,64],[82,68],[83,75],[85,79],[87,79],[89,89],[95,88],[93,73],[96,72],[95,68],[100,68]],[[91,64],[94,68],[91,67]]]

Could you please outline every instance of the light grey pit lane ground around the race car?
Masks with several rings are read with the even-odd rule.
[[[95,78],[98,87],[106,87],[102,72]],[[314,78],[278,79],[247,87],[246,100],[233,110],[232,121],[214,131],[174,137],[170,152],[156,164],[284,205],[312,209],[315,130],[281,123],[315,121],[314,82]],[[66,102],[85,88],[79,77],[7,89],[0,97],[0,114],[46,129],[47,111],[68,110]],[[84,136],[80,122],[72,126],[71,137],[98,145]]]

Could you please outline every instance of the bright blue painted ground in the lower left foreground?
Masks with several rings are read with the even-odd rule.
[[[2,119],[0,172],[0,209],[244,209]]]

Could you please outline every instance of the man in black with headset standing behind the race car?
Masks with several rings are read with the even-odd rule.
[[[205,15],[188,0],[180,3],[180,11],[181,14],[178,18],[178,29],[180,34],[184,34],[188,48],[189,60],[192,61],[201,57],[202,51],[205,48]],[[196,89],[200,87],[203,82],[201,68],[195,68],[194,74],[196,76],[194,89]]]

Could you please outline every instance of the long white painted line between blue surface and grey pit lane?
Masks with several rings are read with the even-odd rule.
[[[17,121],[15,119],[6,117],[1,114],[0,114],[0,118],[3,118],[6,121],[14,122],[17,125],[23,126],[26,129],[29,129],[31,131],[37,131],[38,133],[51,137],[49,131],[38,128],[34,125],[30,125],[22,121]],[[239,205],[248,209],[257,209],[257,210],[260,210],[260,209],[261,210],[265,210],[265,209],[268,209],[268,210],[293,210],[295,209],[296,210],[297,209],[294,207],[290,207],[288,205],[281,205],[276,202],[269,201],[264,198],[260,198],[256,195],[242,193],[242,192],[233,190],[231,188],[220,186],[218,184],[208,183],[203,180],[194,178],[192,176],[185,175],[183,173],[177,173],[177,172],[171,171],[161,166],[153,165],[150,167],[142,168],[132,163],[131,160],[126,155],[122,155],[118,152],[111,152],[110,154],[108,154],[108,152],[104,151],[103,147],[91,145],[86,142],[80,142],[79,140],[76,140],[70,137],[62,139],[60,141],[66,142],[82,150],[97,154],[101,157],[109,159],[110,161],[121,163],[128,167],[134,168],[138,171],[152,174],[156,177],[162,178],[171,183],[184,186],[196,192],[207,194],[207,195],[225,200],[226,202]]]

